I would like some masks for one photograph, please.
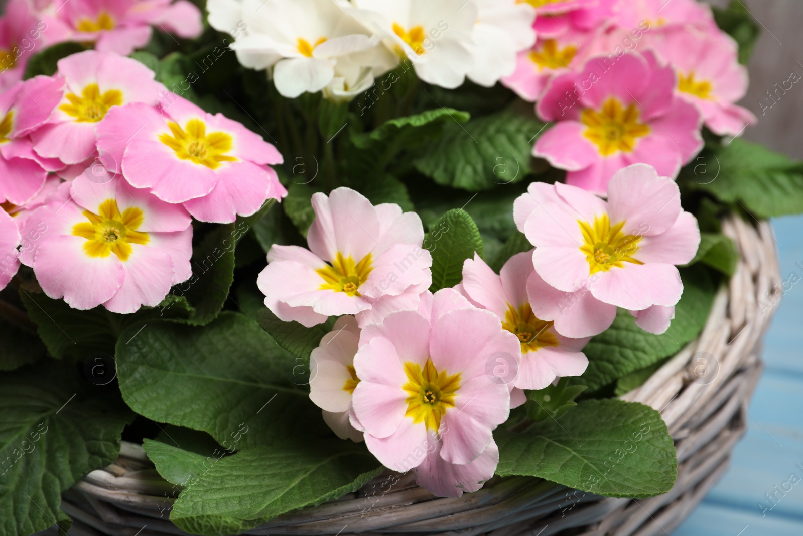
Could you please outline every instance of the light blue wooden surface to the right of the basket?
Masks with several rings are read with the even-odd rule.
[[[766,338],[766,369],[731,468],[672,536],[803,534],[803,216],[773,226],[783,279],[800,280],[785,293]],[[774,506],[766,493],[775,494]]]

